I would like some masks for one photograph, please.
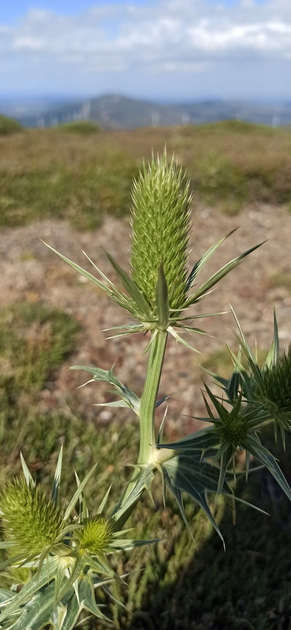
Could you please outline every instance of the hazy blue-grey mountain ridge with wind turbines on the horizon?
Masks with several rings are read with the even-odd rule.
[[[93,120],[105,129],[202,124],[218,120],[244,120],[265,125],[291,123],[291,103],[271,105],[243,101],[205,100],[163,105],[121,95],[104,95],[51,106],[41,115],[18,117],[28,127],[55,127],[74,120]]]

